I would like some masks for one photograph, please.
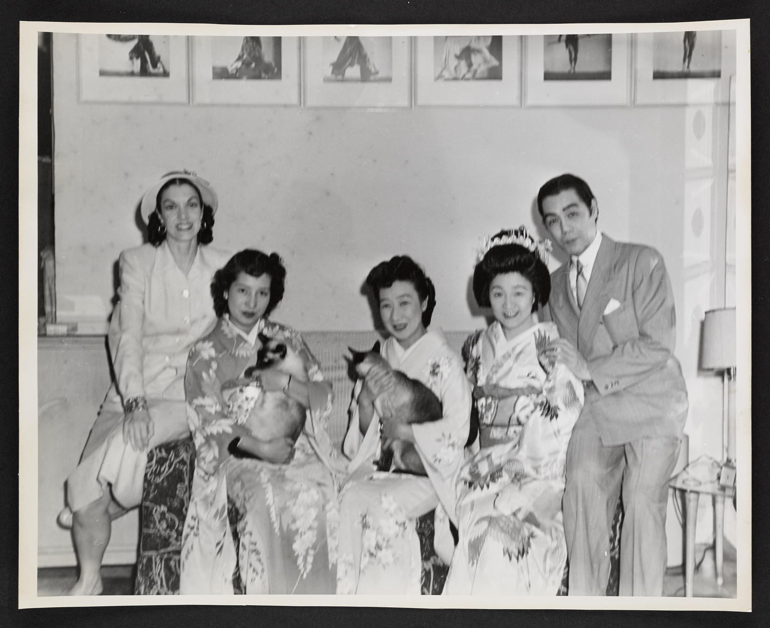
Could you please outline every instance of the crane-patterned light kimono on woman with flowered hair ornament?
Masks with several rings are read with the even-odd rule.
[[[444,593],[555,595],[567,544],[561,514],[567,444],[583,406],[583,386],[541,349],[558,332],[534,324],[507,340],[495,321],[468,338],[474,387],[518,389],[480,397],[481,450],[457,480],[459,542]],[[474,395],[478,396],[478,395]],[[531,414],[527,401],[534,401]]]

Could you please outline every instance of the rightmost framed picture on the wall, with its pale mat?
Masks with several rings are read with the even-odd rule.
[[[735,31],[638,33],[637,105],[728,102],[735,75]]]

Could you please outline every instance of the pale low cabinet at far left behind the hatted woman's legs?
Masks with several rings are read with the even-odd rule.
[[[38,340],[38,566],[75,565],[69,530],[56,523],[65,480],[78,464],[110,385],[103,336]],[[136,562],[139,509],[113,522],[105,564]]]

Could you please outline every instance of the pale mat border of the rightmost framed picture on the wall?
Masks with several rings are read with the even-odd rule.
[[[652,38],[654,32],[636,35],[634,59],[634,105],[706,105],[730,99],[730,77],[735,76],[735,29],[721,31],[721,76],[718,79],[653,79]],[[658,31],[671,32],[671,30]],[[678,31],[674,31],[678,32]],[[726,41],[725,41],[726,40]]]

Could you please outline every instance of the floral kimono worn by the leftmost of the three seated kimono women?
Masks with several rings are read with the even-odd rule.
[[[339,519],[332,448],[326,434],[332,392],[300,334],[260,321],[270,338],[284,338],[306,364],[310,409],[286,464],[219,458],[214,437],[246,418],[243,399],[223,396],[223,384],[256,363],[259,341],[223,317],[192,348],[185,388],[196,470],[182,533],[180,593],[334,593]],[[252,334],[256,338],[256,334]],[[341,462],[341,461],[337,461]],[[236,537],[228,519],[236,509]]]

